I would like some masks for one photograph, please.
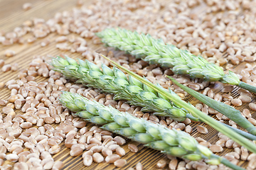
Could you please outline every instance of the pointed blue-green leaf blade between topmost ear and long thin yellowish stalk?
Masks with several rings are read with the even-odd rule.
[[[250,123],[246,118],[244,118],[240,111],[236,110],[235,108],[226,105],[225,103],[222,103],[220,101],[215,101],[212,98],[209,98],[208,96],[205,96],[201,93],[198,93],[197,91],[194,91],[187,86],[184,86],[178,81],[176,81],[174,78],[167,76],[171,81],[174,82],[177,86],[179,86],[184,91],[188,92],[188,94],[191,94],[194,98],[198,99],[199,101],[205,103],[210,108],[215,109],[216,111],[223,113],[223,115],[227,116],[231,120],[233,120],[235,123],[238,123],[242,128],[245,128],[250,132],[252,135],[256,135],[256,128],[252,123]]]

